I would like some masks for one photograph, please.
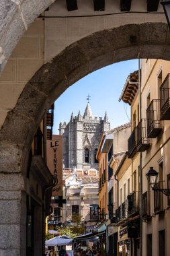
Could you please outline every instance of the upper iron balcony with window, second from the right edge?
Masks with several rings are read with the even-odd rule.
[[[160,100],[152,100],[146,109],[147,137],[156,138],[162,131],[163,125],[160,120]]]

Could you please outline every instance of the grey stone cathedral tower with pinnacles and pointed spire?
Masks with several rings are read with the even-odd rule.
[[[63,137],[63,166],[88,170],[97,168],[97,150],[104,132],[110,130],[107,113],[101,117],[93,117],[89,102],[82,116],[79,112],[71,114],[69,123],[60,123],[59,133]]]

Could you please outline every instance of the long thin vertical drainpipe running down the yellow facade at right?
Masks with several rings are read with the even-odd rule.
[[[140,59],[138,59],[138,92],[139,92],[139,120],[142,118],[142,101],[141,101],[141,74],[140,74]],[[140,256],[142,256],[142,152],[140,152]]]

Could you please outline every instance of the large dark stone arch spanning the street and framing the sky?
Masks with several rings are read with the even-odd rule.
[[[1,127],[1,190],[9,187],[12,191],[15,184],[17,191],[26,191],[25,173],[34,133],[44,113],[60,94],[88,73],[118,61],[136,58],[170,60],[167,24],[130,24],[96,32],[71,44],[52,61],[43,65],[26,84],[15,108],[8,113]],[[18,196],[22,201],[22,195]],[[15,207],[15,218],[21,218],[21,205]],[[10,214],[7,214],[4,227],[8,232],[11,226],[15,230],[15,218],[10,220]],[[21,251],[24,248],[22,235],[25,227],[21,222],[16,226],[13,248],[17,243],[17,251]],[[4,243],[2,240],[0,247]]]

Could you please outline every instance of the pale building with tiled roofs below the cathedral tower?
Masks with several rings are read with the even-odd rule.
[[[66,204],[62,208],[62,222],[70,224],[75,214],[81,218],[85,232],[96,230],[99,174],[96,169],[63,170],[63,196]]]

